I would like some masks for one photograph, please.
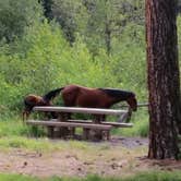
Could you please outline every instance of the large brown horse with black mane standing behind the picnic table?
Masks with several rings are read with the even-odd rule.
[[[126,101],[133,111],[137,109],[135,94],[114,88],[87,88],[80,85],[68,85],[61,89],[64,106],[87,108],[110,108],[119,101]],[[97,117],[105,120],[105,116]]]

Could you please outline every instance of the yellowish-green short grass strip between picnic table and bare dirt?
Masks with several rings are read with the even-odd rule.
[[[79,141],[50,141],[46,137],[41,138],[28,138],[24,136],[4,136],[0,138],[0,148],[1,149],[11,149],[11,148],[24,148],[29,150],[38,152],[52,152],[52,150],[83,150],[83,152],[94,152],[95,149],[104,149],[105,144],[96,147],[88,142],[79,142]],[[108,147],[106,147],[109,149]]]

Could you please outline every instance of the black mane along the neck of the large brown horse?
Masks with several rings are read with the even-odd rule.
[[[133,92],[117,89],[117,88],[98,88],[105,92],[107,95],[111,97],[119,97],[121,99],[128,99],[129,97],[135,96]]]

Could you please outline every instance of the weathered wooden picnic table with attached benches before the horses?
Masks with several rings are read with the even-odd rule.
[[[124,121],[128,110],[116,109],[97,109],[97,108],[80,108],[80,107],[34,107],[34,111],[38,112],[56,112],[57,119],[49,120],[27,120],[27,124],[43,125],[48,129],[48,136],[55,137],[74,137],[75,129],[83,130],[83,140],[109,140],[110,130],[112,128],[131,128],[132,123],[107,122],[97,120],[99,114],[109,114],[119,117],[119,121]],[[92,114],[93,120],[71,120],[65,113],[85,113]]]

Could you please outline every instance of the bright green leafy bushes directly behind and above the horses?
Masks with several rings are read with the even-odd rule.
[[[97,59],[92,59],[81,38],[70,47],[55,23],[38,24],[0,53],[0,105],[16,110],[22,107],[26,94],[43,95],[70,83],[116,84],[109,65]]]

